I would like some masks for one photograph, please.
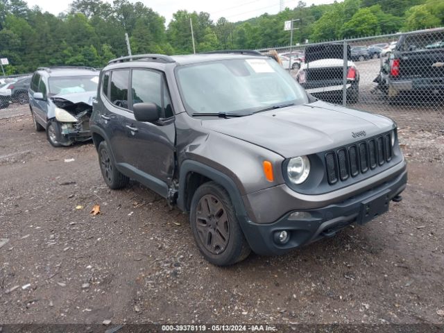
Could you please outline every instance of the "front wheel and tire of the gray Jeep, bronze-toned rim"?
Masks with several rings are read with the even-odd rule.
[[[198,187],[191,200],[189,221],[196,245],[208,262],[229,266],[250,254],[230,196],[216,182],[205,182]],[[223,244],[216,244],[217,239]]]

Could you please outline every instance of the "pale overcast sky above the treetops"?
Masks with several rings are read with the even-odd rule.
[[[112,0],[107,0],[112,2]],[[171,21],[173,13],[178,10],[188,10],[189,12],[209,12],[214,22],[219,17],[225,17],[230,22],[244,21],[251,17],[256,17],[268,12],[275,14],[279,12],[280,0],[139,0],[145,6],[153,8],[155,12],[165,17],[167,24]],[[43,11],[58,15],[60,12],[69,10],[72,0],[27,0],[29,7],[40,6]],[[130,0],[130,2],[135,2]],[[321,3],[332,3],[333,0],[305,0],[307,6],[311,3],[316,5]],[[284,0],[284,7],[294,8],[298,5],[298,0]]]

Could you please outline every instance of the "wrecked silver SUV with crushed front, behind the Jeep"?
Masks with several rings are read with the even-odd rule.
[[[40,67],[29,87],[35,130],[46,130],[52,146],[91,139],[89,117],[99,71],[92,67]]]

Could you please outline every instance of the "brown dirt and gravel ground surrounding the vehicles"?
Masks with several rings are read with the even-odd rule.
[[[219,268],[186,214],[136,182],[108,189],[92,144],[0,119],[0,323],[442,324],[444,135],[404,127],[400,142],[409,184],[388,214]]]

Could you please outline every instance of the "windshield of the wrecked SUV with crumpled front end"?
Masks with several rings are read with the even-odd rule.
[[[99,75],[51,76],[48,80],[49,94],[72,94],[97,90]]]

